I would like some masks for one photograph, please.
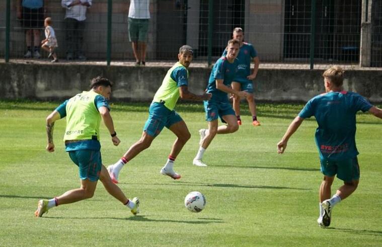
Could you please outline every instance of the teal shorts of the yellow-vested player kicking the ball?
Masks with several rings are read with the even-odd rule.
[[[100,150],[69,151],[70,159],[79,167],[80,178],[97,181],[100,178],[102,160]]]

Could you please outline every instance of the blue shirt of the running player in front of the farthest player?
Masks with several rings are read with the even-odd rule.
[[[225,86],[231,87],[236,72],[238,70],[238,60],[230,63],[225,56],[217,59],[212,67],[211,75],[209,76],[207,93],[211,93],[212,97],[209,101],[228,102],[227,93],[216,88],[216,80],[223,80]]]

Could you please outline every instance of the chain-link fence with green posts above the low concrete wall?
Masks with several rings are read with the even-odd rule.
[[[3,57],[8,1],[0,2],[4,10],[0,14]],[[196,61],[213,63],[232,38],[233,29],[241,27],[262,64],[382,67],[382,0],[40,1],[43,6],[32,11],[28,7],[33,6],[23,5],[39,1],[10,1],[11,59],[47,56],[39,48],[45,38],[43,24],[34,23],[30,31],[28,23],[39,16],[52,19],[61,61],[174,60],[179,47],[189,44],[195,49]],[[135,3],[135,16],[131,15],[131,2]],[[133,32],[135,29],[143,29],[143,34]]]

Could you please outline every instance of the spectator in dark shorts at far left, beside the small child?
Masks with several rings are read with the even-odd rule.
[[[44,0],[18,0],[17,18],[25,30],[25,58],[40,58],[40,30],[44,27]],[[33,47],[32,47],[33,40]]]

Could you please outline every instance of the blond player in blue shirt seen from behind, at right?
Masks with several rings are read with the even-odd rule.
[[[330,225],[333,207],[350,196],[358,186],[358,151],[355,145],[357,111],[368,111],[382,118],[382,110],[372,106],[361,95],[342,91],[343,75],[343,69],[338,66],[324,72],[326,93],[308,101],[277,144],[278,153],[282,154],[289,138],[301,122],[305,118],[315,116],[318,123],[316,144],[320,154],[321,171],[324,174],[319,194],[320,217],[317,220],[321,227]],[[331,186],[336,174],[344,184],[331,197]]]

